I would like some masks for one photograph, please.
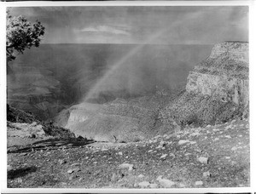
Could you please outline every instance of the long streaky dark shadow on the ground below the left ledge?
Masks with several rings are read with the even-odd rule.
[[[38,140],[29,145],[14,145],[8,148],[8,153],[21,153],[35,150],[69,149],[94,143],[94,140],[80,138]]]

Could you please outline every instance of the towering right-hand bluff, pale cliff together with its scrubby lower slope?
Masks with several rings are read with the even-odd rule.
[[[248,117],[248,103],[248,43],[224,42],[189,72],[185,92],[160,115],[181,126],[224,123]]]

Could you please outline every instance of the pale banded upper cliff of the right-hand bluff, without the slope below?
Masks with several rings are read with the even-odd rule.
[[[186,91],[247,106],[248,68],[248,43],[218,43],[210,56],[189,72]]]

